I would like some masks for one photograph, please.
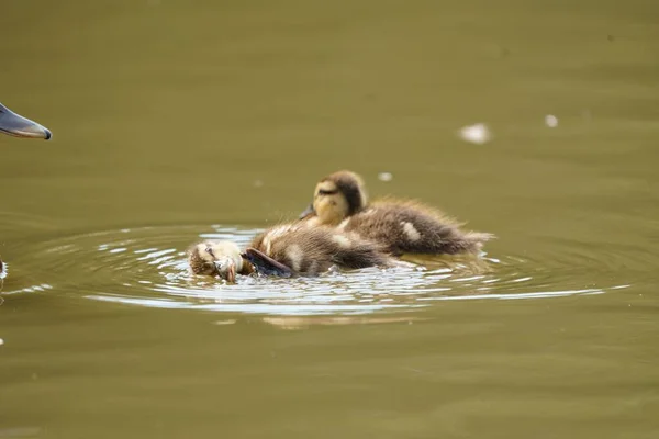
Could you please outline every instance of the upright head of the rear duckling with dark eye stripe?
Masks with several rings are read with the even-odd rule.
[[[367,200],[361,177],[350,171],[334,172],[319,181],[313,202],[300,218],[317,216],[321,224],[337,225],[362,210]]]

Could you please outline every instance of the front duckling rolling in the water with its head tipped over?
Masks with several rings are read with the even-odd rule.
[[[332,266],[346,269],[390,267],[383,248],[356,234],[331,227],[287,224],[256,236],[241,254],[234,243],[206,241],[189,250],[193,273],[220,275],[235,282],[235,274],[257,271],[283,278],[315,275]]]

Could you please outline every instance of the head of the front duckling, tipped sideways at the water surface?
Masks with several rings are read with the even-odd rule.
[[[227,240],[197,244],[188,251],[188,260],[194,274],[217,275],[231,283],[245,263],[238,246]]]

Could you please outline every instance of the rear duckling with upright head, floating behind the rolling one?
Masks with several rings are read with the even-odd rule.
[[[387,246],[393,255],[477,252],[494,237],[462,232],[454,219],[414,201],[382,200],[367,205],[361,178],[350,171],[322,179],[313,203],[300,217],[310,226],[324,224],[339,232],[356,232]]]

